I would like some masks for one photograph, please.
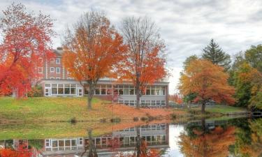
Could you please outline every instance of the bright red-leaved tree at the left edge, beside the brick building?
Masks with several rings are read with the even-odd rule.
[[[12,3],[0,20],[0,95],[22,96],[38,75],[39,58],[52,55],[52,20],[49,15],[29,13],[22,3]]]

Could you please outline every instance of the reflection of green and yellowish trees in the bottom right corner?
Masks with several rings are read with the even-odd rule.
[[[238,128],[235,142],[238,156],[262,156],[262,119],[249,120]]]

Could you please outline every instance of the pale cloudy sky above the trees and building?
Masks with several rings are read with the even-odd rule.
[[[13,1],[1,0],[0,10]],[[262,43],[262,0],[18,0],[29,10],[54,19],[54,48],[66,27],[90,10],[103,11],[116,28],[124,17],[147,16],[159,27],[167,46],[169,93],[177,92],[184,59],[201,55],[211,38],[228,54]],[[2,13],[0,15],[3,15]]]

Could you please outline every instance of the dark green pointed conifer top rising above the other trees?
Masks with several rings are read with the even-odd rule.
[[[202,58],[208,59],[218,66],[223,66],[225,70],[230,68],[230,55],[226,54],[213,39],[211,39],[210,44],[203,49]]]

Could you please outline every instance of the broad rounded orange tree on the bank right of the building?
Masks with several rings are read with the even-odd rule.
[[[211,61],[196,59],[189,63],[181,73],[179,89],[184,96],[195,93],[195,101],[202,103],[202,112],[205,112],[205,103],[214,100],[217,103],[235,103],[232,97],[235,89],[228,85],[228,74],[224,69],[214,65]]]

